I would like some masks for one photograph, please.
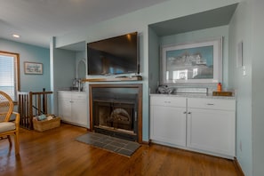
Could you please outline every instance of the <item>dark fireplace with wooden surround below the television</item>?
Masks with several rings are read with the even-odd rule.
[[[90,95],[93,132],[124,140],[141,140],[141,87],[138,84],[91,84]]]

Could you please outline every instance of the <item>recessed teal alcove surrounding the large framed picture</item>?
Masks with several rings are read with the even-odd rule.
[[[223,38],[223,83],[228,79],[228,24],[237,4],[210,11],[181,16],[148,25],[148,84],[150,93],[161,84],[161,47],[172,44],[201,42],[216,37]],[[158,70],[158,71],[157,71]],[[214,84],[169,84],[180,87],[209,87]]]

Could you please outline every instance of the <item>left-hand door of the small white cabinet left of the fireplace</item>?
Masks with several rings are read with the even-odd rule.
[[[59,99],[59,116],[62,120],[71,122],[71,100]]]

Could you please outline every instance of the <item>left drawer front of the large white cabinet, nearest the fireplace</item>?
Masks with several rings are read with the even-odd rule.
[[[150,105],[159,105],[166,107],[186,107],[186,98],[184,97],[163,97],[151,96]]]

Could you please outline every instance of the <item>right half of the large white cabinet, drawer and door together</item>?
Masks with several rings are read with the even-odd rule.
[[[188,99],[188,148],[235,156],[236,100]]]

